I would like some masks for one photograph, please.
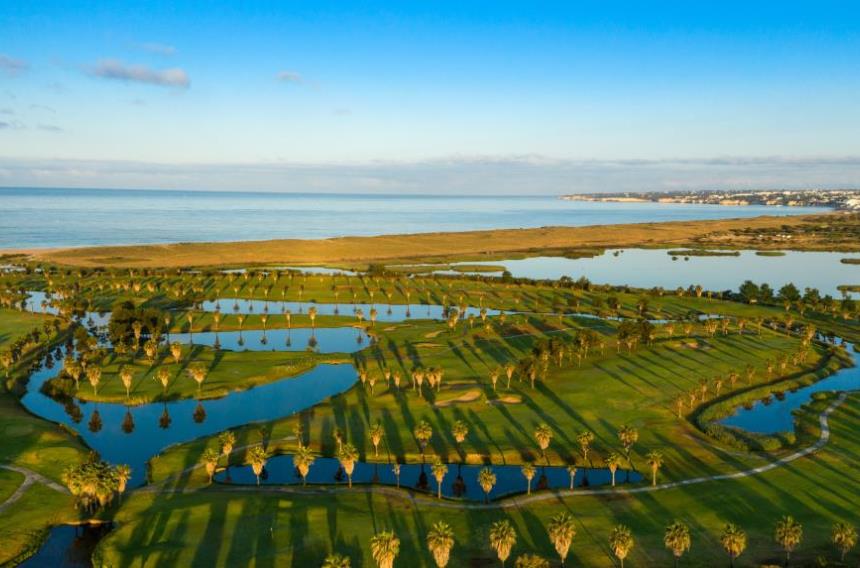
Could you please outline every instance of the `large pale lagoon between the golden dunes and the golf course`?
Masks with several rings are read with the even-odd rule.
[[[860,253],[787,251],[784,256],[758,256],[745,250],[739,256],[681,256],[673,260],[667,249],[613,249],[593,258],[538,256],[455,264],[504,265],[517,278],[585,277],[598,284],[662,286],[669,290],[691,284],[701,284],[706,290],[737,290],[744,280],[766,282],[779,290],[792,282],[801,291],[817,288],[822,295],[838,298],[838,286],[860,284],[860,266],[843,264],[843,258],[860,259]]]

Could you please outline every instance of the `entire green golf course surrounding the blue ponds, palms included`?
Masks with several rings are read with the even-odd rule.
[[[124,352],[91,344],[79,355],[100,370],[97,388],[86,374],[77,387],[67,374],[46,383],[43,392],[51,395],[137,405],[229,396],[299,375],[321,363],[355,367],[360,380],[343,394],[273,422],[234,428],[236,441],[229,457],[233,465],[244,465],[250,450],[261,443],[270,455],[293,453],[301,436],[314,455],[335,456],[342,443],[349,443],[356,447],[358,459],[383,464],[432,463],[438,458],[452,466],[533,462],[602,468],[613,462],[622,470],[633,468],[642,474],[643,481],[632,486],[638,489],[647,488],[651,481],[649,454],[653,451],[662,456],[659,483],[747,471],[816,440],[814,416],[801,420],[796,434],[737,432],[733,441],[717,436],[710,428],[712,421],[737,406],[779,398],[845,365],[844,355],[809,341],[813,327],[848,339],[860,335],[856,314],[840,312],[833,305],[786,309],[776,302],[721,298],[695,286],[636,290],[572,281],[388,274],[69,271],[4,278],[15,289],[74,286],[79,296],[74,304],[64,305],[65,310],[108,310],[118,301],[130,300],[129,309],[141,314],[152,310],[155,319],[150,321],[159,327],[163,324],[170,333],[310,325],[364,328],[371,341],[351,355],[239,352],[199,345],[171,353],[164,343],[147,354],[145,333],[135,338],[128,327],[124,332],[113,329],[110,333],[126,334],[120,336],[125,338]],[[256,313],[240,316],[229,300],[234,297],[268,299],[271,313],[261,313],[258,307]],[[220,315],[195,307],[217,298],[222,298],[225,310]],[[302,302],[305,307],[311,302],[336,302],[343,311],[311,319],[304,310],[287,317],[280,312],[281,300]],[[352,303],[373,304],[378,312],[368,310],[358,318],[350,309]],[[406,321],[374,321],[375,315],[385,313],[387,304],[403,303],[445,305],[452,310],[447,320],[422,319],[424,312],[416,307]],[[467,306],[508,313],[465,317],[462,310]],[[246,307],[240,302],[240,309]],[[701,319],[706,315],[719,318]],[[5,345],[31,329],[46,329],[44,323],[52,319],[0,312],[0,330],[9,338]],[[72,331],[80,338],[81,329]],[[43,332],[42,341],[49,337],[60,342],[70,335],[65,329],[58,335],[47,333]],[[24,368],[39,352],[35,344],[29,345],[12,369],[7,384],[16,392],[23,392]],[[198,374],[202,376],[199,384],[191,372],[196,368],[205,369]],[[825,404],[816,402],[814,412]],[[552,557],[546,526],[562,510],[576,517],[572,563],[608,564],[607,538],[618,522],[629,525],[637,539],[630,565],[670,561],[662,531],[674,517],[693,532],[694,546],[684,563],[701,565],[720,554],[719,531],[727,520],[742,524],[749,533],[749,550],[741,564],[776,562],[770,533],[783,512],[806,525],[808,538],[799,555],[811,559],[813,554],[830,553],[829,525],[836,517],[857,524],[850,514],[856,506],[851,488],[857,480],[853,472],[846,473],[858,461],[857,447],[846,433],[860,421],[858,406],[860,400],[852,398],[833,416],[838,429],[825,451],[758,476],[653,493],[629,494],[621,487],[615,495],[589,494],[588,489],[572,497],[538,492],[534,501],[520,502],[516,497],[489,508],[456,500],[440,504],[428,495],[373,485],[352,491],[325,486],[304,491],[294,486],[209,487],[199,466],[204,452],[220,452],[220,444],[217,434],[204,436],[160,451],[149,462],[147,477],[153,485],[95,513],[118,523],[99,548],[96,564],[313,566],[337,549],[358,565],[370,566],[370,536],[391,528],[403,541],[397,565],[408,558],[418,566],[430,566],[424,538],[432,523],[444,519],[455,535],[463,535],[457,537],[451,565],[480,565],[492,563],[487,534],[489,525],[502,517],[510,518],[519,533],[514,556],[535,551]],[[424,423],[431,432],[426,445],[416,435],[416,428]],[[371,435],[377,424],[378,453]],[[455,435],[458,424],[468,430],[462,441]],[[551,434],[546,448],[537,436],[544,425]],[[631,430],[635,435],[625,446],[622,431]],[[0,398],[0,432],[6,441],[0,459],[49,479],[59,480],[64,468],[79,463],[84,455],[75,438],[23,411],[11,393]],[[583,432],[593,434],[587,448],[581,444]],[[843,446],[838,444],[847,444],[847,453],[840,453]],[[768,451],[751,451],[762,448]],[[836,484],[840,475],[846,479],[844,490]],[[14,475],[0,478],[0,495],[14,492],[16,482]],[[524,492],[525,488],[524,479]],[[31,505],[22,514],[21,531],[26,532],[14,532],[8,558],[31,547],[48,524],[88,516],[71,506],[70,497],[41,484],[28,489],[10,510],[24,503]]]

